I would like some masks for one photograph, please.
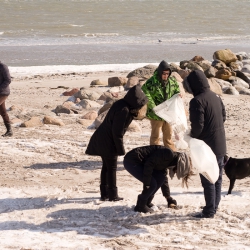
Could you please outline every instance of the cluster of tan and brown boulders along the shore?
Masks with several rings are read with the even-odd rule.
[[[180,65],[170,64],[171,76],[176,78],[184,98],[183,80],[192,70],[196,69],[204,72],[211,90],[219,95],[223,93],[250,95],[249,54],[245,52],[233,53],[231,50],[225,49],[214,52],[213,59],[210,62],[201,56],[195,56],[191,60],[181,61]],[[12,123],[19,123],[21,127],[34,127],[43,124],[64,126],[65,116],[68,116],[69,119],[74,117],[76,122],[86,128],[96,129],[102,123],[112,104],[123,98],[131,87],[137,84],[142,86],[153,75],[156,68],[155,65],[146,65],[129,72],[127,77],[110,77],[107,82],[99,79],[93,80],[87,88],[73,88],[63,92],[63,95],[69,96],[69,98],[52,110],[54,115],[49,113],[32,116],[22,122],[25,120],[24,117],[24,119]],[[18,118],[20,117],[17,116]],[[64,120],[62,121],[60,118],[64,118]],[[132,122],[129,131],[141,132],[137,121]]]

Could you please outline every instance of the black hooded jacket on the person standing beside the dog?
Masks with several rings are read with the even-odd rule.
[[[222,157],[226,154],[224,104],[210,90],[208,80],[201,70],[192,71],[186,81],[194,95],[189,103],[190,135],[203,140],[217,157]]]

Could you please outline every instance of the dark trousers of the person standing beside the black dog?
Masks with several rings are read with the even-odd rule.
[[[219,165],[219,178],[212,184],[203,175],[200,174],[201,184],[204,189],[206,206],[203,208],[203,214],[214,215],[218,209],[221,200],[222,169],[224,167],[223,157],[217,157]]]

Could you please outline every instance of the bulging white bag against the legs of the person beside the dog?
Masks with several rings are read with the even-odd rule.
[[[204,141],[194,138],[190,139],[189,147],[193,167],[214,184],[219,178],[219,167],[212,149]]]

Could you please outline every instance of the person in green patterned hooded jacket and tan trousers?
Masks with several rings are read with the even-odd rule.
[[[154,75],[149,78],[142,86],[143,92],[148,97],[147,118],[151,123],[150,145],[160,145],[160,131],[163,134],[163,144],[176,151],[172,141],[172,128],[169,123],[164,121],[153,111],[153,108],[173,95],[180,93],[179,85],[174,77],[169,64],[162,61],[155,70]]]

